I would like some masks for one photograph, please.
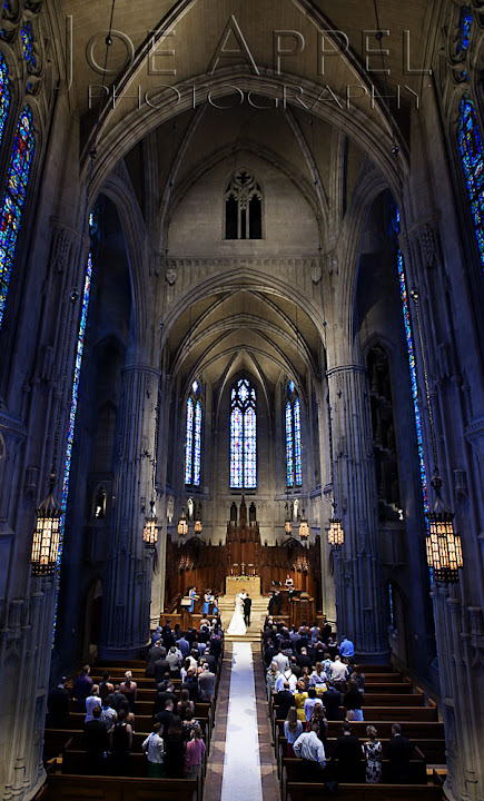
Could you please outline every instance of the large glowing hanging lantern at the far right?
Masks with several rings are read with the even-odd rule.
[[[454,533],[454,515],[441,497],[442,478],[435,476],[432,486],[436,497],[428,511],[427,563],[435,581],[456,584],[464,565],[461,537]]]

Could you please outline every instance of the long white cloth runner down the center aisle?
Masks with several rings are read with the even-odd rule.
[[[250,643],[233,644],[228,699],[221,801],[263,801]]]

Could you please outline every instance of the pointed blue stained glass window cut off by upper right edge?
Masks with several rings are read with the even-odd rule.
[[[484,157],[475,106],[463,97],[458,108],[458,149],[467,187],[481,264],[484,267]]]

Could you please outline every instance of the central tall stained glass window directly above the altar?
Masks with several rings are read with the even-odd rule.
[[[230,487],[257,487],[256,390],[247,378],[230,393]]]

